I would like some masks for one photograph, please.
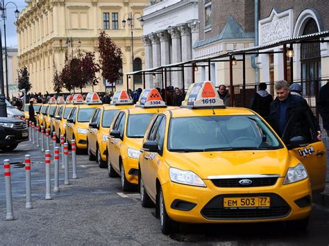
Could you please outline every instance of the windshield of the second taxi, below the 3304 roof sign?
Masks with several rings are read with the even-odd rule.
[[[144,137],[153,114],[130,114],[128,117],[127,137]]]

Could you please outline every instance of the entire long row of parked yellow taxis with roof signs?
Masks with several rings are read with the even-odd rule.
[[[180,222],[307,227],[312,193],[323,191],[326,177],[316,134],[284,143],[255,112],[225,107],[211,82],[192,84],[182,107],[167,107],[156,89],[144,89],[136,105],[126,91],[100,104],[92,93],[85,102],[58,98],[38,119],[121,177],[123,191],[138,188],[162,233]]]

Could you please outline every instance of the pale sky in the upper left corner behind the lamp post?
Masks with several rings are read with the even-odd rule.
[[[5,3],[8,3],[10,0],[5,0]],[[11,0],[12,1],[12,0]],[[22,11],[27,5],[24,0],[13,0],[16,3],[18,10]],[[14,22],[15,18],[15,10],[16,7],[12,3],[8,3],[7,5],[7,19],[6,19],[6,35],[7,35],[7,46],[17,46],[17,33],[16,26]],[[3,20],[1,19],[1,30],[2,30],[2,46],[5,46],[4,42],[4,33],[3,33]]]

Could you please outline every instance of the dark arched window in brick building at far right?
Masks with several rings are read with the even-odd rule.
[[[317,22],[310,18],[304,27],[303,35],[318,33]],[[321,73],[321,53],[319,43],[301,44],[301,79],[303,81],[303,94],[314,95],[314,80]]]

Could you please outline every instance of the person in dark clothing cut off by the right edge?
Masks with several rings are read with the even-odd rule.
[[[326,129],[329,137],[329,82],[320,89],[317,109],[322,117],[323,128]]]

